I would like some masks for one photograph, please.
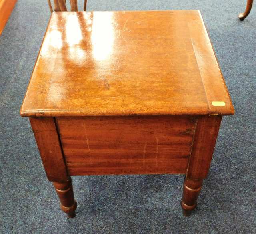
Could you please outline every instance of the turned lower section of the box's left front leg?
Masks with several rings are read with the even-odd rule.
[[[53,185],[60,199],[60,208],[68,215],[68,218],[74,218],[77,203],[74,199],[71,178],[67,182],[53,182]]]

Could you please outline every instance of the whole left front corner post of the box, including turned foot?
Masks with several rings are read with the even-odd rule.
[[[47,178],[53,182],[60,199],[60,208],[69,218],[74,218],[77,205],[54,117],[30,117],[29,119]]]

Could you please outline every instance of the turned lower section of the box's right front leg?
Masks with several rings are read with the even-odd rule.
[[[196,208],[196,201],[200,190],[202,188],[203,180],[190,180],[188,178],[184,181],[183,195],[181,200],[181,207],[184,216],[190,216],[192,210]]]

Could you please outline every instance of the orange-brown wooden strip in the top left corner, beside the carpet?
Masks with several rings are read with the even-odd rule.
[[[14,8],[17,0],[0,0],[0,35],[4,30],[12,9]]]

